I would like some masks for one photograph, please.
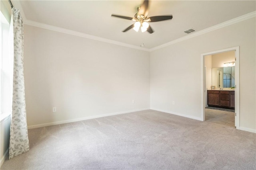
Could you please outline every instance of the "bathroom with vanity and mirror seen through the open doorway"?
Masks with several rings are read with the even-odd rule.
[[[235,127],[235,51],[205,56],[205,121]]]

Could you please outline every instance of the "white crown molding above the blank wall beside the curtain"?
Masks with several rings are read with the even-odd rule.
[[[130,44],[127,44],[127,43],[122,43],[122,42],[114,41],[114,40],[111,40],[111,39],[97,37],[97,36],[94,36],[94,35],[89,35],[89,34],[86,34],[86,33],[81,33],[81,32],[73,31],[73,30],[70,30],[70,29],[64,29],[64,28],[61,28],[61,27],[56,27],[56,26],[52,26],[52,25],[48,25],[48,24],[44,24],[44,23],[40,23],[40,22],[36,22],[36,21],[26,20],[26,21],[24,21],[24,24],[31,25],[31,26],[34,26],[34,27],[40,27],[40,28],[44,28],[44,29],[48,29],[48,30],[52,30],[52,31],[57,31],[57,32],[60,32],[60,33],[75,35],[75,36],[78,36],[78,37],[93,39],[93,40],[96,40],[96,41],[102,41],[102,42],[105,42],[105,43],[121,45],[121,46],[124,46],[124,47],[129,47],[129,48],[138,49],[138,50],[142,50],[142,51],[150,51],[150,49],[137,47],[136,45],[130,45]]]

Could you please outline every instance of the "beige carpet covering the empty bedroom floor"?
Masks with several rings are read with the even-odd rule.
[[[147,110],[28,131],[6,169],[255,169],[256,134]]]

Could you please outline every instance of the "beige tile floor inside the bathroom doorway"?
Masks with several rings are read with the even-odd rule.
[[[205,108],[205,121],[235,127],[235,113]]]

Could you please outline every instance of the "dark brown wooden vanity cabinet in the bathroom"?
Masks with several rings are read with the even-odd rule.
[[[208,106],[222,107],[228,109],[235,108],[235,92],[227,90],[207,90]]]

